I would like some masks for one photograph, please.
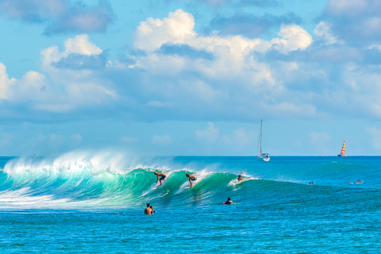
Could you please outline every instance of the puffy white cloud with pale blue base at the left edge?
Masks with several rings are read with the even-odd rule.
[[[116,100],[116,92],[105,85],[109,81],[94,76],[86,64],[82,68],[75,66],[78,62],[73,56],[84,60],[84,57],[97,57],[103,52],[88,39],[87,35],[69,38],[65,41],[63,52],[59,52],[55,45],[43,49],[42,67],[47,75],[28,71],[20,79],[9,78],[5,65],[0,63],[0,98],[13,103],[28,103],[29,108],[34,110],[55,113],[69,112],[78,106],[102,104],[109,99]],[[62,62],[69,66],[62,66]]]

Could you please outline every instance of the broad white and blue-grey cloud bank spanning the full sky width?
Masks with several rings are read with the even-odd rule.
[[[87,115],[103,110],[105,115],[146,121],[251,121],[264,112],[303,119],[380,117],[378,44],[361,50],[343,46],[334,42],[330,25],[315,27],[318,40],[326,43],[312,43],[296,24],[281,24],[268,40],[205,35],[195,30],[192,14],[177,10],[142,21],[133,38],[133,55],[117,60],[108,60],[88,35],[77,35],[65,40],[63,49],[43,49],[39,72],[14,79],[0,65],[0,97],[27,102],[28,109],[39,112],[78,110]],[[365,60],[374,67],[361,66]],[[217,129],[208,125],[196,137],[207,140],[206,132]],[[209,136],[217,142],[215,135]]]

